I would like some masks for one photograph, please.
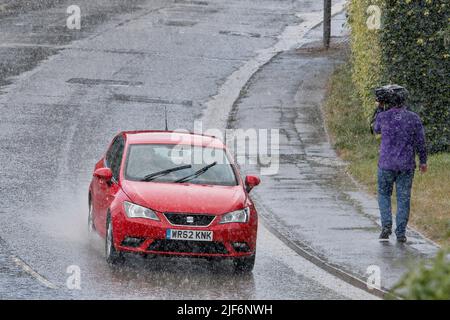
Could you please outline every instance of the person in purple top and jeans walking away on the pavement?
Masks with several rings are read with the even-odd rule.
[[[392,234],[391,198],[395,185],[397,194],[396,230],[397,241],[405,243],[408,225],[411,188],[419,156],[419,168],[427,172],[425,131],[420,117],[407,110],[408,91],[398,85],[386,89],[386,103],[379,105],[373,130],[381,134],[378,161],[378,205],[382,231],[380,241],[388,241]],[[387,107],[386,107],[387,105]]]

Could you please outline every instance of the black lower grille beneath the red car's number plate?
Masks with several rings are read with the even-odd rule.
[[[147,250],[174,253],[228,253],[223,243],[209,241],[155,240],[150,244]]]

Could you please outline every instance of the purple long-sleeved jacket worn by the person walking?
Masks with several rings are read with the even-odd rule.
[[[381,133],[378,167],[384,170],[414,170],[416,153],[420,164],[427,163],[425,132],[419,116],[403,108],[381,112],[374,131]]]

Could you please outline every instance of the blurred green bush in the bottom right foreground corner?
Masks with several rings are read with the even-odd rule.
[[[450,250],[441,250],[431,265],[412,268],[393,288],[393,295],[408,300],[450,300],[448,254]]]

